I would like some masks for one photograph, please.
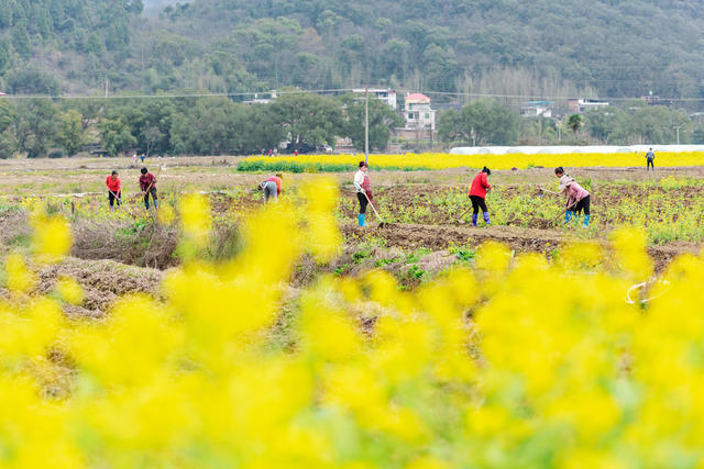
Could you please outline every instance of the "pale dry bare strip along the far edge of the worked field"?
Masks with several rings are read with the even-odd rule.
[[[65,159],[0,159],[0,193],[75,193],[102,191],[105,178],[118,170],[125,192],[139,191],[139,169],[146,166],[160,171],[164,190],[224,190],[233,187],[252,188],[262,175],[238,174],[240,157],[179,157],[147,158],[144,164],[132,164],[131,158],[65,158]],[[704,167],[657,168],[647,172],[644,168],[566,168],[578,179],[598,181],[648,181],[673,175],[680,178],[704,179]],[[471,168],[440,171],[381,171],[374,172],[374,187],[398,185],[447,185],[471,182],[476,172]],[[299,183],[318,175],[286,175],[288,183]],[[329,174],[341,185],[351,186],[351,174]],[[492,174],[497,185],[550,183],[554,181],[552,168],[505,170]]]

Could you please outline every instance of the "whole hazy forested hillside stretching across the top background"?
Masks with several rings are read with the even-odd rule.
[[[2,0],[0,36],[10,92],[704,96],[700,0]]]

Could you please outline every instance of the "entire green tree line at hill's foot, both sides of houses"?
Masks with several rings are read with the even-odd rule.
[[[385,150],[403,118],[370,97],[370,147]],[[364,148],[364,99],[289,89],[268,104],[229,98],[114,98],[91,100],[0,98],[0,157],[72,156],[128,149],[151,155],[226,155],[334,147],[346,137]],[[561,120],[525,119],[497,100],[441,111],[444,148],[486,145],[704,144],[704,121],[645,101],[606,107]],[[415,148],[416,146],[410,143]]]

